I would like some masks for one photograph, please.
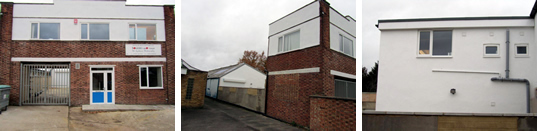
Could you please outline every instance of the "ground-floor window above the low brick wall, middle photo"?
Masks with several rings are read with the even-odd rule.
[[[340,80],[335,79],[334,80],[334,88],[335,88],[335,94],[336,97],[346,97],[346,98],[353,98],[355,99],[355,82],[354,81],[346,81],[346,80]]]

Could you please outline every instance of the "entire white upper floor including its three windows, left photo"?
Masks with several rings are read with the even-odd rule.
[[[14,3],[12,40],[165,41],[164,9],[126,1]]]

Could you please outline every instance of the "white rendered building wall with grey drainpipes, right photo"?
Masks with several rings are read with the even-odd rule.
[[[379,20],[378,28],[376,110],[526,113],[526,93],[536,99],[535,16]],[[530,90],[491,80],[506,76],[507,57],[510,78],[529,80]]]

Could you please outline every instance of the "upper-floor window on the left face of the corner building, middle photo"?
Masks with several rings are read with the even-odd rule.
[[[278,38],[278,52],[299,48],[300,31],[292,32]]]

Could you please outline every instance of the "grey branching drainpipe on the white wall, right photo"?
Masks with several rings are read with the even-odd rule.
[[[509,73],[510,73],[510,69],[509,69],[509,58],[510,58],[510,30],[506,29],[506,78],[497,78],[497,77],[493,77],[491,78],[491,81],[500,81],[500,82],[525,82],[525,85],[527,88],[525,88],[525,92],[527,94],[527,99],[526,99],[526,103],[527,103],[527,113],[530,113],[530,103],[529,103],[529,90],[530,90],[530,82],[529,80],[527,79],[518,79],[518,78],[510,78],[509,77]]]

